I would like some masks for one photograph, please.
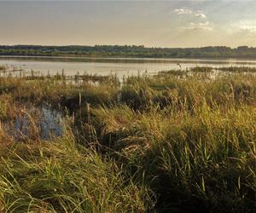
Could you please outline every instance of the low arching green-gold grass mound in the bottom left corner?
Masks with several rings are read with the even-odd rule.
[[[143,212],[149,193],[72,135],[50,144],[8,144],[1,150],[3,212]],[[147,204],[148,203],[148,204]]]

